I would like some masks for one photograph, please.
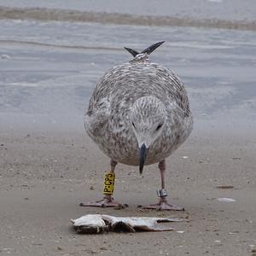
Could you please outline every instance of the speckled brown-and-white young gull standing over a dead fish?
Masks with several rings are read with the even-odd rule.
[[[96,84],[84,127],[90,138],[110,158],[105,173],[103,199],[81,203],[84,207],[115,207],[114,169],[118,163],[139,166],[159,163],[160,201],[143,208],[183,210],[166,200],[166,158],[189,137],[193,118],[183,83],[170,69],[149,61],[160,44],[142,52],[125,48],[133,59],[108,70]]]

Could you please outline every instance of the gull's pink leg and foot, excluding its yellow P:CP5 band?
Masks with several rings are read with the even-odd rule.
[[[118,164],[115,160],[110,160],[111,171],[114,173],[114,168]],[[104,195],[102,200],[99,201],[89,201],[80,203],[80,207],[121,207],[119,202],[114,201],[111,195]]]

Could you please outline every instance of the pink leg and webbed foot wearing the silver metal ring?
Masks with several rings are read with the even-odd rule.
[[[160,201],[157,204],[140,207],[142,209],[156,209],[158,211],[184,211],[183,207],[177,207],[170,204],[166,200],[166,190],[165,190],[165,171],[166,171],[166,160],[161,160],[159,163],[160,175],[161,175],[161,189],[159,190]]]

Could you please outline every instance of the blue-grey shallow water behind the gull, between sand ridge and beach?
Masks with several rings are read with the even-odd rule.
[[[129,61],[124,46],[166,40],[151,61],[171,68],[189,92],[195,127],[243,129],[256,117],[256,34],[165,26],[0,20],[2,127],[83,129],[96,81]]]

